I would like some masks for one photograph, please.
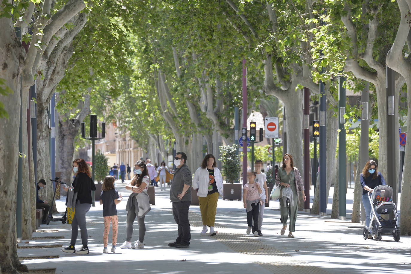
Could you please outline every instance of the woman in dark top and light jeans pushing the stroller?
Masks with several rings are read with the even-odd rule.
[[[375,161],[367,161],[363,168],[363,172],[360,174],[360,183],[361,187],[363,187],[363,197],[361,198],[361,201],[363,202],[365,209],[365,225],[369,228],[371,204],[369,203],[368,195],[369,193],[372,193],[374,188],[381,184],[386,184],[383,175],[378,171],[378,166]],[[375,238],[377,238],[376,235]],[[368,239],[372,239],[371,234],[368,235]]]

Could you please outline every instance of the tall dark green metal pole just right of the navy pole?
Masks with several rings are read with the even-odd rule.
[[[339,134],[338,134],[338,195],[339,195],[339,220],[346,220],[346,143],[345,143],[345,77],[339,77]]]

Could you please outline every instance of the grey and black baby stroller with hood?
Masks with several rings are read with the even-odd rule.
[[[399,227],[397,226],[397,211],[393,203],[393,188],[385,184],[374,188],[372,195],[368,194],[369,203],[371,203],[370,227],[363,229],[364,239],[368,239],[369,234],[375,234],[377,240],[381,241],[381,234],[391,233],[395,242],[399,242]],[[377,215],[378,214],[378,215]],[[379,216],[386,214],[386,219]],[[394,214],[393,219],[389,219],[388,214]]]

